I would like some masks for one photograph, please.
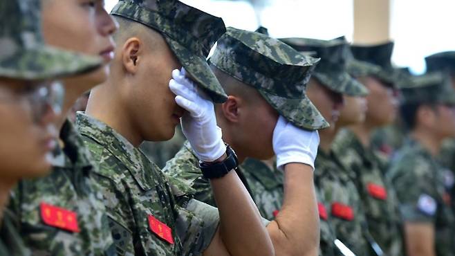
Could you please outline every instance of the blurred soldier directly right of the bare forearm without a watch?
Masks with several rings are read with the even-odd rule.
[[[349,45],[342,39],[330,41],[289,38],[283,39],[298,51],[314,51],[321,62],[315,68],[315,73],[308,83],[308,97],[331,127],[319,131],[319,145],[315,162],[315,185],[324,201],[320,201],[319,213],[321,221],[328,221],[335,235],[356,255],[370,255],[370,248],[364,232],[365,215],[360,203],[360,195],[353,183],[349,170],[344,169],[333,156],[331,144],[335,137],[335,127],[343,105],[343,95],[364,97],[368,90],[353,79],[347,71],[349,60]],[[360,63],[359,65],[367,66]],[[342,210],[343,209],[343,210]],[[324,231],[324,230],[322,230]],[[323,234],[322,234],[323,235]],[[321,249],[324,255],[334,255],[335,239],[324,241],[321,237]],[[324,242],[323,242],[324,241]],[[331,250],[331,253],[327,253]]]

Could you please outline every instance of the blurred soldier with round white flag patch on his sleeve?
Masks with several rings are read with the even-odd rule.
[[[454,255],[454,213],[436,156],[455,136],[455,91],[443,73],[413,77],[402,89],[402,118],[410,131],[388,176],[400,200],[408,255]]]

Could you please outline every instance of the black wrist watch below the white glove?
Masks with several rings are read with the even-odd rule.
[[[199,161],[199,168],[201,168],[201,172],[206,179],[219,179],[228,174],[228,172],[235,170],[237,165],[239,165],[234,149],[226,143],[225,145],[227,155],[225,160],[217,163]]]

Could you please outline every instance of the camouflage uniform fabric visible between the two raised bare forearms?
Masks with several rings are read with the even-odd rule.
[[[247,158],[239,167],[261,216],[270,221],[275,219],[284,199],[284,173],[272,164]]]

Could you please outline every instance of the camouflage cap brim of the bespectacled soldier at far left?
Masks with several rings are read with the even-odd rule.
[[[2,58],[0,77],[19,80],[53,80],[88,73],[101,65],[100,57],[37,45]]]

